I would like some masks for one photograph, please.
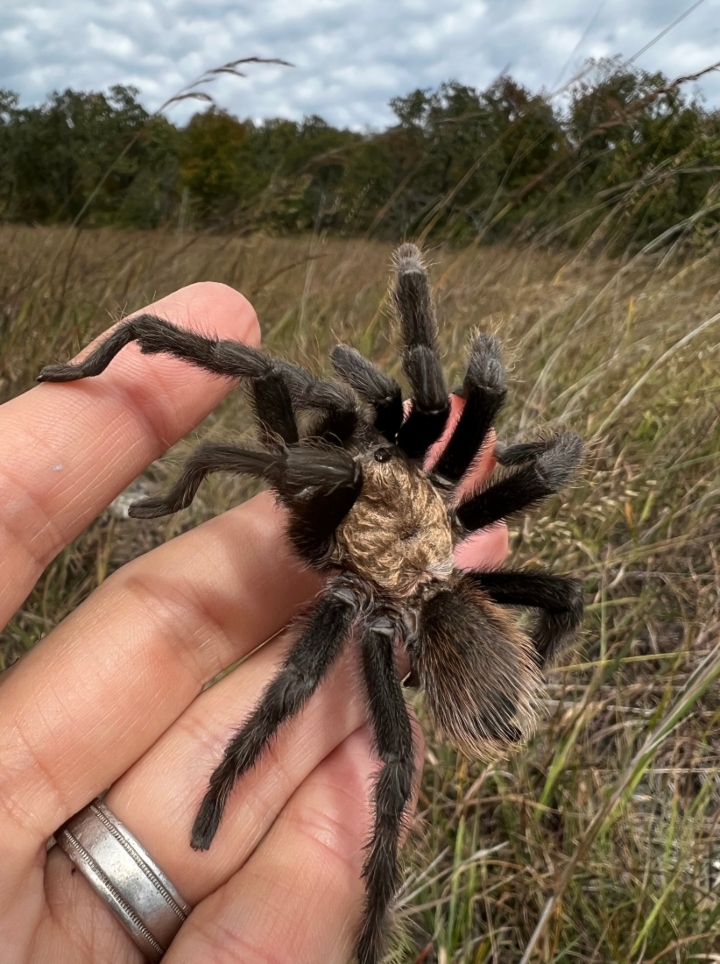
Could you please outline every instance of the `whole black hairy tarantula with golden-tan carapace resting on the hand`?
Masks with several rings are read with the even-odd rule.
[[[427,275],[412,244],[395,254],[390,300],[412,389],[406,405],[398,384],[347,346],[338,345],[330,356],[340,381],[321,380],[240,342],[206,338],[151,315],[122,322],[79,364],[52,365],[39,376],[61,382],[99,375],[136,341],[145,354],[165,352],[217,375],[249,380],[262,450],[206,442],[165,497],[136,502],[130,514],[149,519],[186,508],[210,472],[255,476],[288,510],[294,551],[328,578],[277,675],[210,777],[191,846],[210,847],[233,786],[311,697],[354,629],[383,764],[363,869],[361,964],[376,964],[381,955],[399,883],[399,838],[415,769],[403,683],[422,687],[432,720],[457,747],[486,757],[530,732],[541,670],[569,642],[583,609],[576,580],[542,569],[460,571],[453,564],[453,547],[469,533],[564,485],[581,459],[581,440],[562,432],[496,446],[500,476],[455,498],[489,444],[505,399],[499,345],[487,334],[473,339],[457,390],[464,400],[459,421],[426,469],[450,403]],[[302,431],[296,419],[301,412]],[[523,630],[508,606],[536,609],[538,618]],[[396,668],[397,646],[409,660],[404,680]]]

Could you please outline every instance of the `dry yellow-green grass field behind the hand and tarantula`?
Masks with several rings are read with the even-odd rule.
[[[120,313],[208,279],[251,298],[270,349],[320,366],[344,340],[398,374],[389,245],[9,227],[0,244],[2,400]],[[720,961],[720,250],[428,255],[451,384],[470,331],[495,331],[499,437],[592,440],[578,483],[511,528],[513,558],[582,575],[587,617],[527,748],[480,765],[429,744],[396,958]],[[248,424],[235,393],[150,478]],[[0,668],[118,565],[245,492],[213,480],[162,524],[105,513],[7,627]]]

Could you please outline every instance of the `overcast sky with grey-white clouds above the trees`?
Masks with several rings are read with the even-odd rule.
[[[279,57],[295,66],[223,77],[216,100],[240,116],[379,128],[391,97],[452,78],[483,87],[508,70],[554,90],[586,57],[631,58],[688,11],[636,60],[671,77],[720,60],[720,0],[0,0],[0,87],[30,104],[133,84],[154,110],[208,68]],[[720,106],[720,73],[702,90]]]

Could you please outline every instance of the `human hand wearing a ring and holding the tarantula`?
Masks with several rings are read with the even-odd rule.
[[[251,306],[223,285],[192,285],[147,310],[259,341]],[[47,563],[231,387],[132,346],[100,378],[42,385],[0,408],[3,624]],[[475,536],[462,562],[498,564],[506,547],[498,527]],[[287,638],[253,651],[318,587],[261,495],[124,566],[3,674],[4,961],[143,959],[66,855],[46,853],[107,787],[105,802],[194,907],[169,964],[352,958],[377,762],[351,647],[236,788],[210,851],[189,845],[208,775]]]

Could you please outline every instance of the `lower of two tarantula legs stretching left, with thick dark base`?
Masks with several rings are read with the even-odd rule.
[[[204,442],[187,460],[166,496],[133,503],[130,515],[154,519],[187,508],[211,472],[243,473],[268,482],[290,510],[288,534],[296,552],[309,562],[322,559],[330,537],[362,487],[360,466],[343,449],[301,442],[270,453],[225,442]]]

